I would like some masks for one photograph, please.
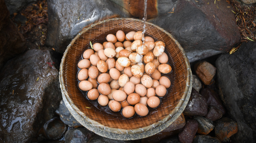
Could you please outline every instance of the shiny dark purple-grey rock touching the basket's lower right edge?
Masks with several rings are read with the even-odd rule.
[[[207,101],[194,88],[192,88],[189,101],[183,114],[187,116],[205,116],[207,114]]]

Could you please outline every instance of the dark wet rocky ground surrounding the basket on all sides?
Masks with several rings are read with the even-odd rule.
[[[117,141],[94,134],[72,117],[62,101],[59,65],[82,27],[136,12],[115,0],[77,0],[68,6],[68,0],[26,2],[13,8],[13,1],[0,0],[1,142],[256,141],[255,4],[159,1],[158,15],[148,21],[171,32],[188,55],[190,100],[164,131]]]

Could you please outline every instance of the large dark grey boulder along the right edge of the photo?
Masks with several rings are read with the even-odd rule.
[[[235,53],[223,54],[216,64],[220,97],[238,123],[234,142],[256,142],[256,42],[242,43]]]

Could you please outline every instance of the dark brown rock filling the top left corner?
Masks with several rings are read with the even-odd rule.
[[[12,57],[26,50],[25,39],[10,19],[5,1],[0,0],[0,69]]]

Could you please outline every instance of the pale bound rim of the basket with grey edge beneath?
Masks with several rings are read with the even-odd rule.
[[[94,26],[96,26],[98,24],[103,24],[103,23],[106,23],[109,21],[123,20],[123,19],[144,22],[142,20],[135,19],[135,18],[112,18],[112,19],[106,19],[103,21],[99,21],[95,24],[90,25],[87,28],[83,28],[83,30],[80,31],[80,33],[78,33],[75,36],[75,38],[70,42],[70,44],[67,46],[67,48],[63,54],[63,57],[62,57],[61,63],[60,63],[59,81],[60,81],[60,88],[61,88],[61,93],[62,93],[62,98],[63,98],[64,103],[66,104],[66,106],[67,106],[68,110],[71,112],[71,114],[75,117],[75,119],[78,122],[80,122],[84,127],[93,131],[94,133],[104,136],[104,137],[118,139],[118,140],[135,140],[135,139],[141,139],[144,137],[154,135],[154,134],[162,131],[164,128],[168,127],[173,121],[175,121],[181,115],[181,113],[185,109],[186,104],[188,103],[188,99],[191,94],[192,72],[190,69],[190,64],[189,64],[188,58],[187,58],[183,48],[181,47],[180,43],[175,38],[173,38],[173,36],[169,32],[167,32],[163,28],[161,28],[153,23],[146,22],[146,24],[156,27],[157,29],[161,30],[162,32],[167,34],[169,37],[171,37],[171,39],[173,41],[175,41],[177,46],[180,48],[182,54],[184,55],[184,59],[186,61],[185,64],[186,64],[186,68],[187,68],[186,87],[185,87],[185,90],[184,90],[185,92],[183,93],[181,100],[177,103],[177,105],[176,105],[175,109],[173,109],[172,113],[170,113],[168,116],[166,116],[162,120],[158,121],[157,123],[153,123],[152,125],[142,127],[139,129],[132,129],[132,130],[117,129],[117,128],[111,128],[111,127],[104,126],[104,125],[88,118],[84,113],[82,113],[82,111],[79,110],[79,108],[74,104],[72,99],[69,97],[69,94],[64,85],[64,77],[63,77],[63,64],[65,62],[65,57],[66,57],[68,51],[70,50],[70,48],[72,47],[72,45],[75,43],[75,40],[77,40],[83,33],[87,32],[88,30],[90,30],[91,28],[93,28]],[[160,126],[164,127],[164,128],[160,128]],[[106,133],[106,131],[108,133]],[[143,137],[140,135],[142,135]]]

